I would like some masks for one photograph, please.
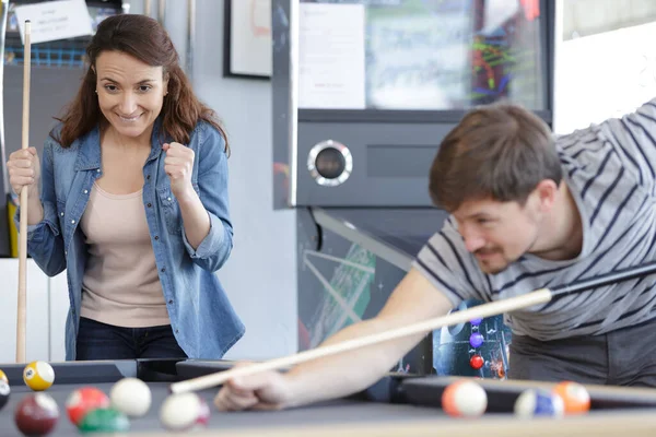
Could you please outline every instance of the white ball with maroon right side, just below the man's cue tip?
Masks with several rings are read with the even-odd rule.
[[[160,409],[160,422],[166,429],[180,432],[207,426],[210,408],[194,392],[168,395]]]

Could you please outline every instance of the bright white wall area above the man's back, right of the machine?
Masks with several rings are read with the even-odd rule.
[[[557,133],[621,117],[656,97],[655,33],[656,16],[651,23],[560,43],[554,84]]]

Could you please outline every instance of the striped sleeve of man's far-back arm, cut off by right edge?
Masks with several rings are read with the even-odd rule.
[[[625,164],[629,175],[648,187],[652,193],[656,185],[656,98],[645,103],[634,113],[619,119],[610,119],[605,131]]]

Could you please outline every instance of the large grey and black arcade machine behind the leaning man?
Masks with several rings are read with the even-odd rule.
[[[553,8],[273,0],[274,202],[297,214],[301,349],[373,317],[440,231],[429,168],[468,109],[506,99],[551,125]],[[504,378],[509,341],[501,317],[476,320],[395,370]]]

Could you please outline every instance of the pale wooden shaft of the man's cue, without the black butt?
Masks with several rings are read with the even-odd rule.
[[[298,354],[283,356],[281,358],[276,358],[263,363],[258,363],[244,367],[235,367],[230,370],[219,371],[215,374],[204,375],[194,379],[188,379],[186,381],[175,382],[172,383],[169,388],[172,393],[202,390],[210,387],[219,386],[225,382],[226,380],[238,376],[246,376],[259,371],[280,369],[283,367],[305,363],[312,359],[317,359],[324,356],[335,355],[342,352],[370,346],[372,344],[399,339],[402,336],[409,336],[422,332],[430,332],[438,328],[465,323],[478,318],[496,316],[500,314],[514,311],[516,309],[530,307],[532,305],[546,304],[549,300],[551,300],[552,296],[553,294],[550,290],[540,288],[522,296],[509,297],[507,299],[479,305],[462,311],[452,312],[447,316],[424,320],[418,323],[409,324],[402,328],[393,329],[385,332],[379,332],[373,335],[348,340],[341,343],[316,347],[314,350],[304,351]]]

